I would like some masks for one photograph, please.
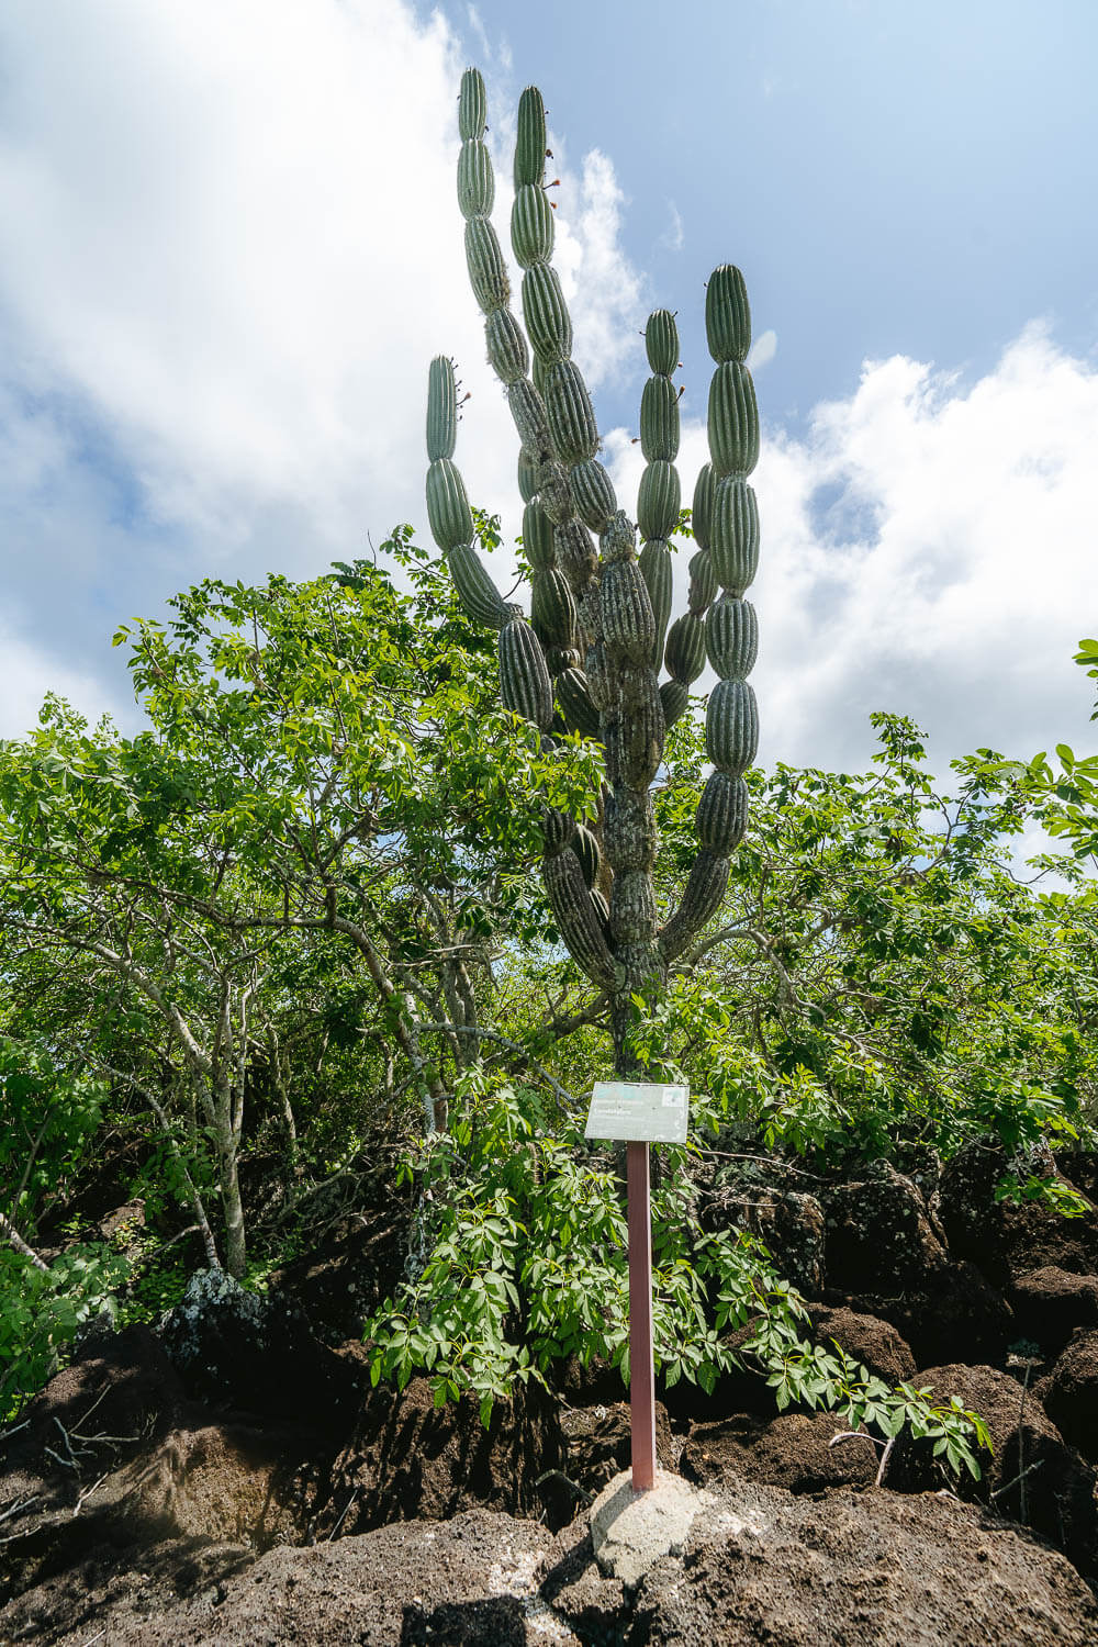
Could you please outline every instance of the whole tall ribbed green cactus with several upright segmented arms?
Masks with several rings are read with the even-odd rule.
[[[519,104],[515,201],[510,239],[522,268],[522,318],[491,222],[495,196],[484,143],[487,100],[477,69],[459,96],[458,204],[466,219],[466,262],[484,313],[489,361],[507,390],[519,433],[523,542],[532,568],[530,619],[495,590],[472,542],[472,516],[459,471],[453,362],[428,376],[426,506],[435,542],[468,614],[499,629],[504,705],[533,721],[551,744],[565,726],[598,738],[606,753],[601,824],[561,812],[543,819],[545,888],[565,944],[609,998],[616,1069],[634,1072],[627,1051],[632,996],[652,998],[691,937],[718,911],[729,853],[744,833],[744,771],[757,743],[747,675],[757,649],[754,608],[742,598],[759,558],[759,519],[747,484],[759,451],[751,372],[751,315],[742,275],[714,270],[706,290],[706,334],[716,361],[710,389],[710,455],[693,494],[698,550],[690,562],[688,608],[672,609],[672,534],[682,488],[675,316],[657,310],[645,329],[652,376],[640,404],[647,468],[637,527],[617,507],[598,458],[594,408],[571,359],[571,316],[551,265],[553,211],[545,191],[545,105],[528,86]],[[527,339],[528,344],[527,346]],[[598,553],[593,535],[598,534]],[[716,590],[721,590],[714,600]],[[698,804],[698,853],[678,907],[660,926],[650,786],[667,726],[686,708],[706,656],[719,680],[710,698],[706,749],[714,771]],[[660,685],[660,662],[668,679]],[[606,896],[609,893],[609,898]]]

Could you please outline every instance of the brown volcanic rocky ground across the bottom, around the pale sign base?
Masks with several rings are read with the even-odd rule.
[[[1067,1220],[996,1202],[984,1148],[900,1164],[731,1163],[705,1220],[767,1240],[820,1341],[975,1407],[981,1482],[909,1441],[876,1486],[869,1439],[775,1416],[761,1379],[675,1387],[660,1463],[708,1502],[626,1591],[586,1522],[629,1459],[621,1385],[565,1367],[487,1431],[423,1380],[372,1390],[352,1334],[398,1243],[349,1220],[267,1299],[204,1271],[156,1332],[97,1331],[26,1408],[0,1441],[0,1647],[1093,1644],[1098,1161],[1057,1158],[1088,1197]]]

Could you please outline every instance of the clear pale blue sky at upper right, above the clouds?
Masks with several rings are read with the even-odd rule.
[[[700,366],[686,292],[718,262],[744,267],[757,329],[780,338],[774,417],[848,394],[866,356],[988,371],[1040,315],[1067,348],[1093,346],[1088,0],[561,0],[551,26],[482,0],[477,15],[514,82],[547,87],[570,147],[612,155],[624,242]]]

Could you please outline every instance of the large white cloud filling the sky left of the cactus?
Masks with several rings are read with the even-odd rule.
[[[463,53],[440,15],[58,0],[8,12],[0,44],[3,593],[26,646],[92,672],[120,618],[193,578],[305,575],[397,520],[425,529],[440,351],[472,392],[469,492],[517,527],[454,196]],[[514,97],[489,96],[507,245]],[[639,285],[609,160],[561,178],[598,382]]]

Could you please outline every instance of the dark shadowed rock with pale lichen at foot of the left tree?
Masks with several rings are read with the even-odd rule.
[[[199,1270],[160,1323],[191,1395],[263,1418],[305,1416],[342,1435],[361,1398],[357,1369],[321,1344],[285,1299],[245,1291],[224,1270]]]

